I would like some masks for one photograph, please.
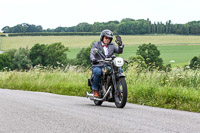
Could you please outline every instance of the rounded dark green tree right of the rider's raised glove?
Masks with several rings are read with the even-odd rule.
[[[138,47],[136,54],[141,55],[145,63],[147,64],[147,67],[149,67],[151,70],[153,68],[163,68],[163,60],[160,58],[160,51],[157,49],[157,47],[154,44],[143,44]]]

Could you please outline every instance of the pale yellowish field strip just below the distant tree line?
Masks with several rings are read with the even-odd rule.
[[[179,36],[179,35],[141,35],[122,36],[126,46],[152,43],[155,45],[199,45],[200,36]],[[22,36],[2,37],[2,50],[9,50],[19,47],[31,48],[36,43],[50,44],[62,42],[69,48],[88,47],[92,41],[99,40],[99,36]]]

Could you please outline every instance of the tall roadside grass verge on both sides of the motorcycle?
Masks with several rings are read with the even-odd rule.
[[[90,70],[35,68],[27,72],[0,72],[0,87],[85,96]],[[142,71],[137,65],[125,72],[128,102],[200,112],[200,72],[173,69],[165,73]]]

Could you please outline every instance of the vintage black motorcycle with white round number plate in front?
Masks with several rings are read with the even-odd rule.
[[[98,49],[93,51],[100,57]],[[101,57],[102,58],[102,57]],[[106,65],[102,68],[103,75],[99,84],[99,98],[93,96],[92,91],[87,92],[87,98],[94,101],[95,105],[101,105],[104,101],[115,102],[117,108],[123,108],[127,102],[127,84],[125,75],[122,73],[124,59],[121,57],[112,56],[111,58],[102,58],[99,62],[104,62]],[[127,63],[127,62],[126,62]],[[92,90],[93,74],[88,79],[88,85]]]

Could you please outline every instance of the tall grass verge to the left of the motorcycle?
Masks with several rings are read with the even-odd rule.
[[[67,71],[37,68],[28,72],[1,72],[0,87],[85,96],[85,92],[89,89],[87,83],[84,82],[87,77],[89,77],[89,72],[75,68]]]

